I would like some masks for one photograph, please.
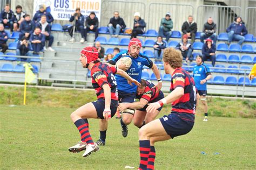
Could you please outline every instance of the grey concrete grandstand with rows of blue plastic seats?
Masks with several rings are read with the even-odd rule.
[[[120,34],[118,38],[111,38],[107,30],[107,27],[105,27],[107,25],[107,22],[109,22],[109,18],[112,17],[112,12],[114,10],[120,11],[122,16],[122,11],[124,11],[124,9],[119,9],[118,3],[129,4],[129,2],[115,1],[112,2],[114,4],[112,5],[112,7],[110,7],[110,2],[111,1],[102,2],[102,12],[105,12],[105,15],[101,17],[99,37],[96,40],[100,41],[102,46],[105,48],[105,54],[111,53],[114,47],[119,47],[121,51],[127,50],[127,45],[129,44],[130,40],[130,35],[124,33]],[[137,8],[129,11],[129,13],[133,13],[135,10],[140,10],[140,12],[142,13],[142,17],[145,18],[145,21],[147,23],[147,30],[145,34],[140,35],[138,38],[143,43],[142,52],[148,55],[154,61],[153,44],[156,41],[156,37],[158,35],[160,19],[164,17],[163,13],[165,13],[168,9],[166,9],[166,7],[163,7],[163,5],[165,4],[161,3],[163,1],[159,2],[158,4],[146,3],[145,6],[148,6],[148,8],[143,8],[143,2],[136,2],[134,1],[132,3],[134,5],[137,4]],[[172,6],[172,10],[175,11],[174,9],[181,8],[180,6],[182,5],[180,4],[183,4],[182,2],[187,3],[188,1],[181,1],[181,3],[168,5]],[[224,6],[224,3],[220,3],[222,6],[219,5],[218,7],[218,5],[216,5],[217,7],[213,6],[213,8],[211,8],[211,5],[204,5],[206,3],[204,3],[204,1],[201,2],[203,4],[198,4],[198,6],[192,6],[190,5],[191,3],[185,7],[183,6],[183,10],[186,10],[186,8],[192,8],[192,10],[187,10],[184,16],[180,16],[181,22],[178,22],[178,17],[175,16],[176,13],[171,12],[171,17],[173,19],[175,26],[173,28],[172,36],[169,42],[166,43],[167,46],[169,47],[175,47],[178,44],[178,42],[180,42],[181,24],[186,20],[186,17],[188,15],[194,15],[195,18],[197,18],[196,21],[198,22],[198,32],[196,34],[196,41],[193,44],[194,60],[197,54],[201,54],[201,48],[203,44],[200,42],[200,31],[203,28],[203,23],[206,22],[205,18],[210,16],[209,12],[212,12],[213,16],[218,15],[219,17],[221,17],[221,10],[230,9],[232,11],[231,16],[247,16],[247,22],[250,21],[250,19],[248,19],[248,14],[241,15],[241,11],[244,11],[244,13],[246,13],[246,11],[248,10],[238,10],[241,9],[239,6]],[[214,2],[212,3],[214,4]],[[106,8],[109,8],[108,12],[104,11]],[[149,14],[151,13],[149,12],[149,10],[159,10],[160,8],[164,8],[163,12],[158,12],[156,18],[152,18],[152,16],[150,16],[151,14]],[[202,10],[201,8],[204,8],[204,10]],[[215,10],[216,8],[219,10]],[[204,16],[202,17],[203,19],[201,19],[201,12],[203,11],[207,14],[207,17]],[[228,13],[228,11],[226,12]],[[132,19],[132,14],[130,16],[125,15],[123,18],[127,18],[127,27],[129,27],[129,25],[132,25],[132,21],[130,21]],[[215,18],[217,19],[217,17]],[[208,93],[236,96],[256,96],[256,79],[254,79],[253,81],[249,81],[247,76],[253,64],[256,63],[255,30],[251,29],[251,23],[246,23],[248,26],[248,34],[245,36],[246,40],[242,44],[242,46],[240,47],[235,41],[228,46],[227,44],[225,44],[225,41],[227,41],[227,33],[225,32],[225,29],[231,23],[232,19],[232,17],[227,17],[227,19],[224,19],[224,27],[220,23],[221,20],[218,21],[219,25],[221,26],[218,27],[217,32],[218,40],[216,44],[217,51],[215,67],[211,66],[210,61],[205,62],[208,66],[210,66],[213,75],[212,79],[207,82]],[[91,87],[90,77],[88,76],[88,70],[80,66],[78,58],[80,49],[82,49],[85,46],[93,45],[95,35],[93,33],[89,33],[87,36],[87,42],[84,44],[80,44],[80,34],[76,33],[76,42],[69,42],[68,40],[70,36],[68,32],[62,30],[62,25],[64,24],[66,23],[58,22],[58,20],[55,20],[55,23],[52,24],[52,35],[55,37],[55,41],[53,42],[52,48],[56,51],[45,51],[41,52],[37,56],[32,57],[31,64],[35,68],[34,73],[37,74],[38,77],[38,79],[34,80],[33,83],[38,84],[39,79],[41,79],[46,80],[48,82],[52,82],[52,86],[67,86],[77,88]],[[7,31],[10,33],[9,30]],[[23,67],[19,67],[17,65],[17,57],[21,56],[15,55],[17,37],[17,32],[10,33],[10,39],[8,40],[8,51],[5,53],[5,55],[0,54],[1,82],[24,82],[24,69]],[[156,62],[156,64],[161,70],[161,77],[164,80],[163,90],[169,91],[171,77],[170,75],[165,75],[162,62]],[[192,74],[192,68],[195,64],[195,61],[187,63],[184,61],[183,67]],[[156,81],[156,77],[154,77],[154,74],[152,74],[151,69],[144,68],[143,77],[147,80],[152,80],[153,82]]]

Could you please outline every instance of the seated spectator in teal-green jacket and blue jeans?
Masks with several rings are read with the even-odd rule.
[[[166,37],[166,41],[168,42],[169,38],[172,35],[172,28],[173,23],[171,19],[171,13],[167,12],[165,18],[161,19],[160,27],[159,27],[159,34],[158,36]]]

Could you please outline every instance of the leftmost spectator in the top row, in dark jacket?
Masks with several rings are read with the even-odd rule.
[[[13,31],[14,21],[15,21],[14,12],[10,10],[10,5],[6,4],[4,10],[1,12],[0,23],[3,23],[4,26],[9,26],[11,31]]]

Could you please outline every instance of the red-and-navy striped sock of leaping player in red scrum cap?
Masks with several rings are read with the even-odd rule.
[[[75,122],[75,125],[81,134],[81,141],[86,142],[87,144],[94,144],[89,132],[89,123],[87,119],[78,119]]]

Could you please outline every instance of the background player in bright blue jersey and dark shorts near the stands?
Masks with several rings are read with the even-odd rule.
[[[203,56],[197,55],[196,65],[193,68],[193,77],[194,82],[196,84],[196,88],[198,90],[198,94],[200,96],[200,100],[204,105],[205,118],[204,122],[208,121],[208,105],[206,102],[207,95],[207,81],[212,78],[212,74],[207,65],[203,63]]]

